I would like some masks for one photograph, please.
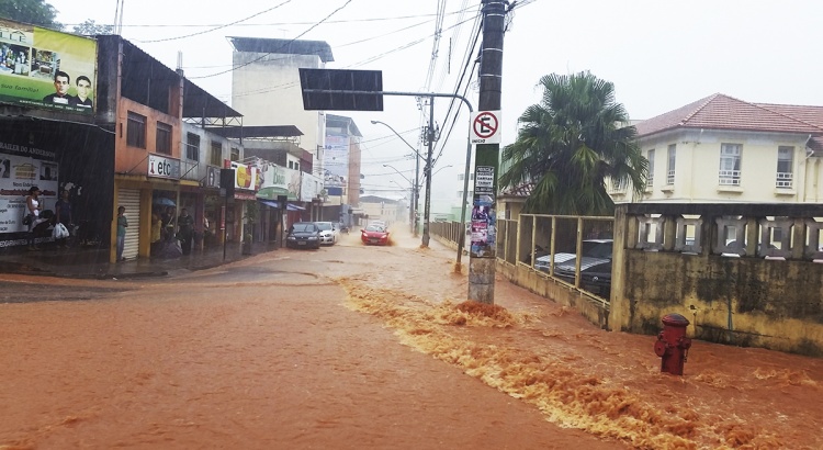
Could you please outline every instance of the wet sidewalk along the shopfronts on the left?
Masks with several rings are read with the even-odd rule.
[[[274,243],[255,243],[251,255],[243,255],[239,243],[193,250],[173,259],[137,258],[110,263],[108,248],[59,249],[47,246],[43,250],[25,248],[0,252],[0,272],[63,278],[139,278],[165,277],[180,270],[201,270],[248,258],[279,247]]]

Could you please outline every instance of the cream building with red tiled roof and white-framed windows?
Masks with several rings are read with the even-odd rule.
[[[638,123],[649,178],[616,202],[818,203],[823,106],[749,103],[717,93]]]

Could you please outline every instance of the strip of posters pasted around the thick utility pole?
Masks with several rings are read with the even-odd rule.
[[[471,256],[495,258],[497,212],[495,211],[495,168],[477,166],[472,202]]]

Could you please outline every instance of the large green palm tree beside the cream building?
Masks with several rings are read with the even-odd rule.
[[[607,180],[639,194],[649,161],[636,144],[615,87],[589,72],[540,79],[539,104],[518,119],[517,140],[503,149],[501,188],[533,182],[523,212],[610,215]]]

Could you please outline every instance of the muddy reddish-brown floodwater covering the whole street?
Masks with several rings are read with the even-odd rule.
[[[597,329],[402,229],[171,279],[0,274],[0,449],[821,449],[823,361]],[[53,296],[49,296],[49,299]]]

